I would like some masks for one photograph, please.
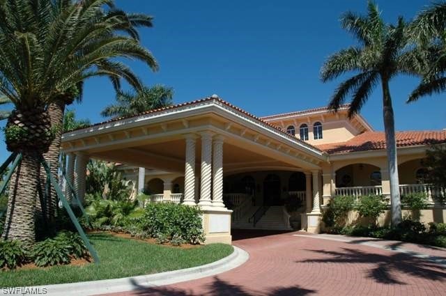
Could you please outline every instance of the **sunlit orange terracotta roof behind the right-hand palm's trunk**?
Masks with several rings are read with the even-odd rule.
[[[397,147],[446,143],[446,130],[397,132],[396,138]],[[384,150],[386,148],[385,134],[384,132],[364,132],[346,142],[328,143],[316,147],[330,154]]]

